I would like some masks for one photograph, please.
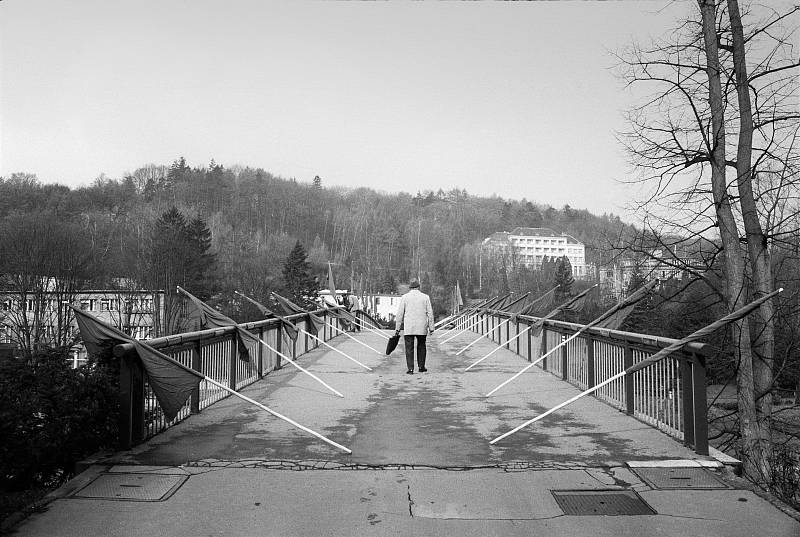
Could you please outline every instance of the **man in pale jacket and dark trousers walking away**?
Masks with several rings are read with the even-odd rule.
[[[395,318],[396,334],[403,330],[403,343],[406,347],[406,374],[414,374],[414,343],[417,344],[417,365],[420,373],[427,371],[425,358],[428,350],[425,339],[433,334],[433,308],[431,298],[419,290],[419,282],[411,280],[409,291],[400,298]]]

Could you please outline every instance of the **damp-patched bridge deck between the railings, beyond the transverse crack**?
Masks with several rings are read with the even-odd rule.
[[[385,340],[375,334],[358,337],[376,349],[385,347]],[[464,367],[495,347],[483,340],[456,356],[472,338],[465,334],[444,346],[429,342],[429,371],[413,376],[405,374],[402,343],[387,357],[345,337],[332,342],[373,371],[324,347],[301,357],[299,363],[342,392],[344,399],[289,365],[244,390],[349,447],[352,455],[228,398],[116,459],[148,465],[323,459],[366,465],[454,467],[527,461],[536,467],[572,467],[699,458],[674,439],[591,397],[490,445],[491,439],[578,389],[534,367],[487,398],[488,391],[526,362],[501,350],[464,373]]]

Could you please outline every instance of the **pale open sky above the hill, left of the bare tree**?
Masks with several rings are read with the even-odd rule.
[[[0,3],[0,175],[179,156],[625,215],[617,50],[689,2]]]

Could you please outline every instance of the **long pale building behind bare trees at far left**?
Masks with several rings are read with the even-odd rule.
[[[163,332],[163,291],[38,291],[23,300],[17,292],[0,290],[0,343],[35,348],[73,342],[78,325],[68,304],[136,339],[150,339]],[[86,361],[86,348],[73,345],[70,356],[77,366]]]

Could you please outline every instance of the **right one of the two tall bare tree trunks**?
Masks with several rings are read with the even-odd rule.
[[[757,295],[763,296],[772,291],[772,269],[770,267],[767,238],[761,228],[753,196],[753,112],[748,86],[747,64],[745,62],[744,30],[737,0],[728,0],[728,14],[731,20],[733,38],[733,67],[736,74],[736,93],[739,100],[739,143],[736,155],[736,185],[739,190],[739,203],[747,237],[747,251],[753,272],[753,286]],[[756,408],[762,423],[766,423],[772,413],[771,390],[773,383],[774,360],[774,307],[771,300],[764,302],[758,315],[751,321],[753,326],[753,376],[756,392]],[[769,446],[769,428],[762,427],[765,447]]]

